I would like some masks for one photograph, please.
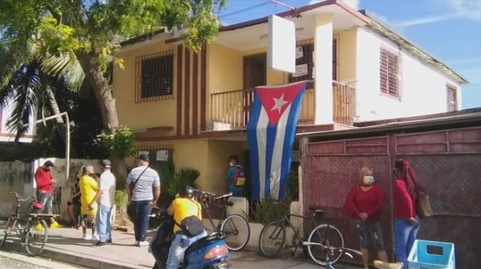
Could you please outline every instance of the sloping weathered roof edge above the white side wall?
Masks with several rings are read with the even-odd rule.
[[[467,79],[465,79],[460,74],[457,74],[456,71],[448,67],[439,59],[436,59],[435,57],[429,55],[429,53],[424,51],[421,47],[419,47],[419,45],[416,45],[415,42],[412,42],[407,38],[402,37],[398,33],[395,33],[395,31],[392,30],[385,23],[379,20],[376,20],[376,16],[373,16],[371,13],[369,13],[369,11],[360,11],[360,12],[368,16],[369,18],[371,18],[371,23],[369,23],[367,27],[369,27],[374,32],[388,38],[389,40],[405,48],[407,51],[411,52],[416,57],[419,57],[419,59],[422,59],[424,62],[431,64],[431,66],[443,72],[444,74],[446,74],[446,76],[450,77],[451,79],[458,82],[459,84],[469,83]]]

